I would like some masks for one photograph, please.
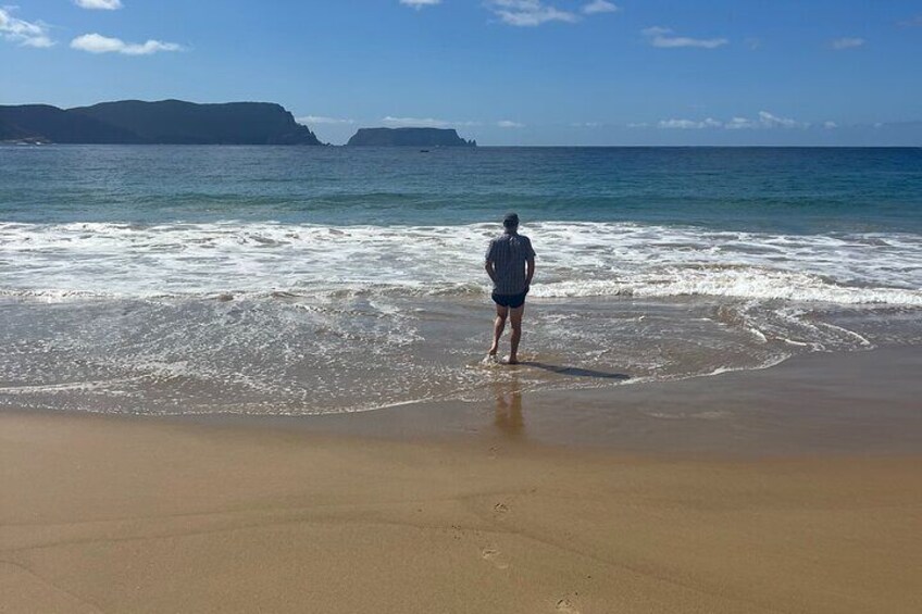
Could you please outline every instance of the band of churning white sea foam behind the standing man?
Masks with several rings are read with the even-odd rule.
[[[496,226],[0,224],[0,295],[427,296],[487,291]],[[533,296],[730,297],[922,305],[922,237],[773,235],[619,223],[523,228]]]

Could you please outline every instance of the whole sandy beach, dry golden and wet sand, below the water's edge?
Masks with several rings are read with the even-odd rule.
[[[525,393],[390,430],[8,409],[0,611],[918,612],[920,361]],[[637,422],[649,406],[672,419]],[[670,444],[696,421],[710,440]]]

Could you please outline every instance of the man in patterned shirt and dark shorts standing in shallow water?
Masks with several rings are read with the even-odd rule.
[[[493,300],[496,303],[496,319],[493,326],[493,346],[488,358],[496,360],[499,338],[506,328],[506,319],[512,323],[512,349],[508,364],[519,363],[519,341],[522,339],[522,314],[525,312],[525,295],[535,276],[535,250],[528,237],[519,234],[519,216],[509,213],[502,221],[506,231],[490,241],[487,248],[487,275],[493,280]]]

